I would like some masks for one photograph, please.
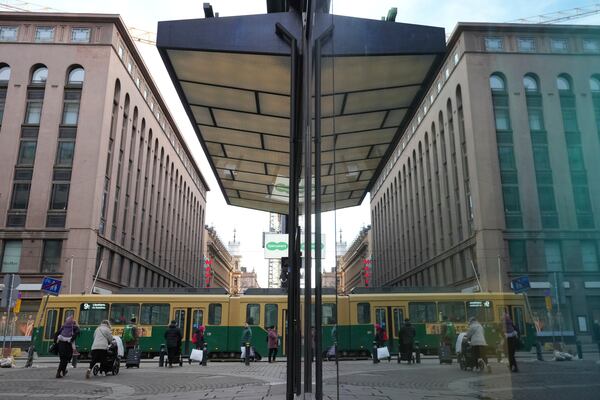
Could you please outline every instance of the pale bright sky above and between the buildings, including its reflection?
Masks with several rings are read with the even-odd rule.
[[[62,11],[83,13],[120,14],[129,28],[156,32],[158,21],[203,18],[202,3],[209,1],[220,16],[250,15],[266,13],[266,0],[34,0],[3,1],[31,11]],[[367,19],[381,19],[391,7],[398,8],[397,22],[443,27],[449,35],[457,22],[509,22],[540,14],[593,5],[587,1],[538,0],[331,0],[332,13]],[[0,7],[1,10],[4,10]],[[534,22],[534,21],[532,21]],[[600,14],[569,21],[572,24],[600,24]],[[262,232],[269,227],[268,213],[228,206],[219,185],[209,167],[200,143],[189,119],[171,84],[164,64],[156,48],[136,42],[145,64],[168,104],[179,130],[211,190],[208,193],[206,223],[214,226],[223,242],[237,240],[243,255],[242,265],[255,269],[262,287],[267,284],[267,261],[263,258]],[[348,245],[360,229],[370,225],[369,195],[362,205],[323,215],[323,233],[326,235],[326,258],[323,266],[331,270],[335,266],[335,243],[342,230]]]

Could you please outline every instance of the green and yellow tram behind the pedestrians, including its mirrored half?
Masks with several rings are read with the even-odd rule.
[[[131,317],[137,317],[140,346],[145,357],[158,355],[164,332],[171,320],[177,321],[184,335],[183,354],[193,347],[192,334],[206,326],[206,341],[211,357],[238,357],[243,324],[252,328],[256,351],[267,354],[267,328],[276,326],[286,352],[285,319],[287,295],[279,289],[249,289],[242,296],[229,296],[220,289],[197,289],[182,293],[170,289],[133,289],[131,294],[61,295],[49,300],[44,315],[38,313],[35,344],[40,355],[48,347],[57,327],[74,315],[81,327],[77,346],[89,352],[94,330],[103,319],[112,324],[113,333],[122,331]],[[337,302],[337,307],[336,307]],[[398,333],[405,318],[416,328],[421,351],[436,354],[440,342],[442,317],[452,321],[457,332],[466,330],[467,320],[476,316],[486,329],[490,347],[501,336],[501,317],[509,307],[521,332],[523,347],[531,347],[534,328],[525,316],[523,297],[509,293],[424,293],[357,289],[347,296],[324,290],[322,335],[325,352],[337,338],[341,357],[368,356],[372,350],[373,325],[385,326],[392,353],[398,351]],[[314,321],[313,321],[314,322]],[[337,328],[334,329],[337,323]]]

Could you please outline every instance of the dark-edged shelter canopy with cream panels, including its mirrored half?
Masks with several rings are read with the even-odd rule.
[[[275,25],[300,39],[297,21],[274,13],[159,23],[159,52],[231,205],[288,212],[292,63]],[[321,59],[323,211],[360,204],[445,52],[441,28],[316,20],[318,31],[331,25]]]

